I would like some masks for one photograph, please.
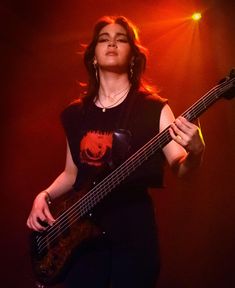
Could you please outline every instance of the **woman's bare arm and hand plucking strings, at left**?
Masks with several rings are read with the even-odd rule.
[[[48,206],[48,195],[50,199],[55,199],[68,192],[76,179],[77,167],[74,164],[69,146],[67,144],[67,155],[64,171],[55,179],[55,181],[46,189],[40,192],[34,199],[32,210],[27,219],[27,226],[30,229],[41,231],[45,229],[40,221],[52,225],[55,219],[51,215]]]

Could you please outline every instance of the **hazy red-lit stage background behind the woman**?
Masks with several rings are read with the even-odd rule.
[[[1,287],[33,287],[26,219],[64,167],[61,110],[86,81],[81,44],[94,22],[122,14],[149,48],[147,75],[176,116],[235,66],[234,1],[2,1]],[[189,17],[203,12],[199,23]],[[166,170],[150,191],[160,232],[158,288],[235,287],[235,100],[200,118],[206,152],[186,180]]]

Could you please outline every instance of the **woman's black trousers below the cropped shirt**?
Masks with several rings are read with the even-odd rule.
[[[78,251],[65,287],[155,288],[160,261],[151,205],[142,199],[112,207],[101,221],[106,235]]]

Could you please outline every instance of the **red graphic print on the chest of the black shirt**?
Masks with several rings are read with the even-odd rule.
[[[111,157],[112,132],[88,131],[80,143],[80,160],[91,166],[102,166]]]

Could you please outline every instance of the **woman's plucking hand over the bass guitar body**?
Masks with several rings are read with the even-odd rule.
[[[27,226],[35,231],[43,231],[47,225],[52,225],[55,222],[49,206],[48,193],[40,192],[34,199],[33,206],[27,219]],[[45,224],[44,224],[45,223]]]

